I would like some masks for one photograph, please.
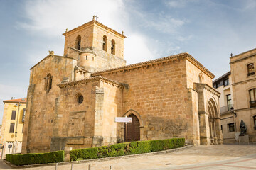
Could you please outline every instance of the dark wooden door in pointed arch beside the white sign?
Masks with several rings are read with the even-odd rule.
[[[127,130],[126,125],[124,125],[124,141],[138,141],[140,140],[139,119],[134,114],[129,115],[129,118],[132,118],[132,123],[127,123]]]

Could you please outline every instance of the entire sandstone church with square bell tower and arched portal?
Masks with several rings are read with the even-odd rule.
[[[92,21],[66,30],[64,55],[31,68],[22,152],[185,137],[221,144],[214,75],[188,53],[126,65],[123,33]]]

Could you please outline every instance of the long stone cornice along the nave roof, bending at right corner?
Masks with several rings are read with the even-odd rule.
[[[137,64],[130,64],[130,65],[127,65],[127,66],[124,66],[124,67],[117,67],[117,68],[114,68],[114,69],[105,69],[105,70],[102,70],[102,71],[99,71],[99,72],[92,73],[92,75],[97,76],[97,75],[100,75],[100,74],[108,74],[110,72],[122,72],[124,70],[144,68],[144,67],[154,65],[154,64],[170,62],[172,60],[180,60],[182,58],[186,58],[189,62],[194,64],[196,67],[198,67],[198,69],[201,69],[202,72],[207,74],[211,79],[213,79],[215,77],[213,73],[211,73],[208,69],[206,69],[206,67],[203,67],[203,65],[200,62],[198,62],[196,59],[194,59],[187,52],[184,52],[184,53],[181,53],[181,54],[178,54],[178,55],[171,55],[171,56],[168,56],[168,57],[163,57],[163,58],[159,58],[159,59],[155,59],[155,60],[149,60],[149,61],[146,61],[146,62],[139,62]]]

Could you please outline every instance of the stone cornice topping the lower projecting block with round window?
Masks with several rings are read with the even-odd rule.
[[[70,81],[70,82],[63,83],[63,84],[57,84],[57,86],[59,86],[60,88],[63,88],[63,87],[66,87],[66,86],[75,86],[77,84],[84,84],[84,83],[90,82],[90,81],[102,81],[102,82],[105,82],[107,84],[111,84],[112,86],[117,86],[120,89],[124,88],[123,84],[121,84],[117,81],[114,81],[112,79],[107,79],[106,77],[101,77],[101,76],[91,77],[91,78],[88,78],[88,79],[80,79],[80,80],[77,80],[77,81]]]

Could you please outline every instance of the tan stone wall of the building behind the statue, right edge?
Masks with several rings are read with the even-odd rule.
[[[255,74],[247,74],[247,64],[253,63]],[[234,109],[238,117],[235,118],[236,130],[240,132],[240,122],[243,120],[247,126],[247,134],[250,142],[256,141],[256,130],[253,116],[256,116],[256,108],[250,108],[249,90],[256,88],[256,49],[243,52],[240,55],[230,57],[230,68],[233,87]]]

